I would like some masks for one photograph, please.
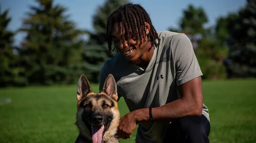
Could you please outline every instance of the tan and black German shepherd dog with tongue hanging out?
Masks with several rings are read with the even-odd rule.
[[[75,143],[119,143],[116,81],[110,74],[101,93],[93,93],[83,74],[77,86],[76,126],[79,136]]]

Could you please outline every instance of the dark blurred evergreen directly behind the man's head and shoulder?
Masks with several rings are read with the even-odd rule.
[[[84,60],[88,62],[86,66],[87,78],[92,82],[99,82],[99,72],[108,56],[108,42],[106,39],[108,16],[119,6],[128,3],[128,0],[106,0],[93,16],[93,31],[87,31],[90,38],[84,49]],[[112,52],[112,56],[117,53]]]

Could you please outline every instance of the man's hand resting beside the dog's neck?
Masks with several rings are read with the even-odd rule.
[[[135,118],[135,111],[130,112],[124,116],[119,121],[118,127],[118,137],[122,139],[131,138],[131,133],[133,133],[134,129],[136,129],[137,121]]]

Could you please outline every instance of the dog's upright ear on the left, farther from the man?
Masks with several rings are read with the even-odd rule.
[[[76,99],[77,101],[81,100],[83,97],[85,97],[88,93],[93,92],[89,81],[87,80],[86,76],[84,76],[84,74],[82,74],[80,76],[80,79],[78,81],[78,85],[77,85],[77,95],[76,95]]]

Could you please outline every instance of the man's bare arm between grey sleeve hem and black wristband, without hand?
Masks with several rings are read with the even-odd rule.
[[[200,116],[203,108],[201,76],[178,86],[180,99],[152,108],[154,121],[169,122],[186,116]]]

